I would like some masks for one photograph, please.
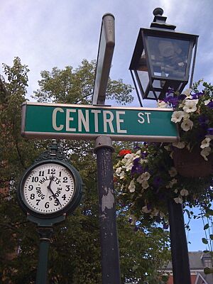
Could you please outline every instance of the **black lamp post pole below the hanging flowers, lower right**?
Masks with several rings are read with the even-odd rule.
[[[182,204],[177,204],[173,200],[170,200],[168,204],[168,213],[173,262],[173,283],[190,284],[190,262]]]

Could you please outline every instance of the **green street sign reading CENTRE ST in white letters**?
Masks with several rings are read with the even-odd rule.
[[[28,138],[115,141],[178,141],[178,129],[170,121],[172,109],[93,107],[80,104],[22,105],[21,134]]]

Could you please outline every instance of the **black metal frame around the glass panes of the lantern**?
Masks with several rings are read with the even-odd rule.
[[[180,79],[180,77],[173,77],[173,79],[169,79],[168,77],[165,76],[156,76],[153,73],[152,70],[152,65],[151,65],[151,58],[149,58],[148,54],[148,36],[153,36],[156,38],[168,38],[168,39],[176,39],[176,40],[187,40],[190,42],[190,46],[188,49],[188,54],[187,54],[187,66],[185,70],[185,76]],[[141,92],[142,99],[163,99],[165,97],[165,93],[168,91],[169,87],[172,87],[175,89],[175,91],[182,92],[184,89],[185,85],[187,84],[189,77],[191,77],[190,80],[190,87],[192,85],[192,77],[194,73],[194,68],[195,68],[195,58],[196,58],[196,52],[197,52],[197,39],[198,35],[191,35],[187,33],[177,33],[175,31],[170,31],[170,30],[163,30],[163,29],[157,29],[157,28],[141,28],[138,34],[138,39],[136,41],[136,46],[133,52],[133,56],[131,59],[131,64],[129,67],[129,70],[131,72],[131,76],[133,79],[133,84],[136,89],[136,93],[138,95],[139,102],[142,107],[141,103],[141,98],[139,95],[139,91]],[[194,55],[193,55],[193,62],[192,62],[192,70],[191,70],[191,76],[190,76],[190,65],[191,65],[191,59],[192,59],[192,53],[193,53],[193,48],[194,48]],[[146,55],[146,65],[148,67],[148,86],[146,87],[146,90],[144,91],[142,87],[141,80],[138,76],[138,63],[141,58],[141,55],[145,52]],[[163,81],[163,87],[154,87],[153,82],[157,81]],[[138,83],[138,87],[136,85],[136,82]],[[139,88],[139,91],[138,91]],[[154,97],[148,97],[148,93],[152,91]],[[160,95],[158,96],[156,92],[160,92]]]

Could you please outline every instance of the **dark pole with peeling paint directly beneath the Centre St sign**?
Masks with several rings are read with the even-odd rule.
[[[97,154],[102,284],[121,284],[114,175],[111,160],[113,150],[109,136],[99,136],[96,139],[94,151]]]

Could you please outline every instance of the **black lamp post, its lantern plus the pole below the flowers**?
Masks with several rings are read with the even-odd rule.
[[[198,35],[175,32],[161,8],[153,14],[151,28],[139,31],[129,67],[141,107],[142,99],[163,99],[170,88],[182,92],[189,79],[191,87],[195,67]],[[168,214],[174,284],[190,284],[182,204],[169,200]]]

